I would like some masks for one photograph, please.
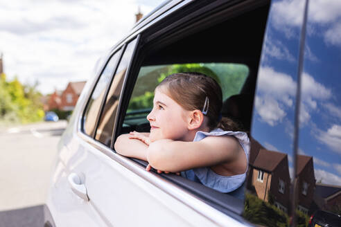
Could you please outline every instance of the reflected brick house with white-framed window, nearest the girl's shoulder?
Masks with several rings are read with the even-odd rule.
[[[250,157],[254,158],[251,154]],[[274,206],[288,212],[290,208],[288,155],[260,148],[253,163],[250,160],[250,165],[252,174],[249,174],[249,179],[256,195],[264,201],[272,200]]]

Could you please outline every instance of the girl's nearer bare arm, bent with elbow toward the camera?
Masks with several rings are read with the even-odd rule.
[[[232,161],[240,148],[233,136],[207,136],[197,142],[157,140],[148,147],[147,161],[157,170],[180,172]]]

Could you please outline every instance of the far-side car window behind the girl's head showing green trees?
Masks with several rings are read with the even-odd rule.
[[[238,94],[249,74],[245,64],[188,63],[160,66],[143,66],[132,91],[125,114],[123,131],[149,131],[146,116],[152,109],[154,90],[167,75],[183,72],[199,72],[214,78],[222,88],[223,100]]]

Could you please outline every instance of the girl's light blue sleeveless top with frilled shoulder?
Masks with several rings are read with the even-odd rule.
[[[207,136],[234,136],[238,139],[247,158],[247,166],[249,164],[250,140],[244,131],[223,131],[222,129],[213,129],[210,132],[197,131],[193,141],[199,141]],[[199,167],[192,170],[181,172],[186,179],[202,183],[209,188],[218,190],[219,192],[229,193],[234,197],[244,199],[244,188],[242,187],[246,179],[247,170],[243,174],[234,176],[222,176],[213,172],[210,167]],[[238,189],[238,190],[237,190]],[[235,191],[236,190],[236,191]]]

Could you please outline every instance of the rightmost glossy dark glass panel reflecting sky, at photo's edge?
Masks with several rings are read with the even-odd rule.
[[[309,2],[299,113],[297,210],[341,215],[341,1]]]

